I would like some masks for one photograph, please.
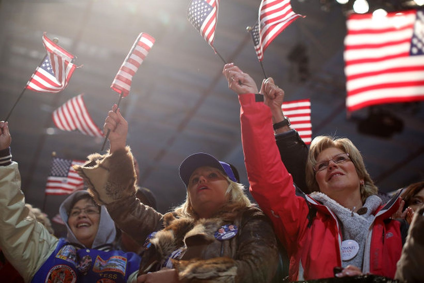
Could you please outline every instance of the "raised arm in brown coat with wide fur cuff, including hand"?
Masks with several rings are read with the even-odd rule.
[[[126,146],[128,123],[116,108],[114,105],[109,111],[103,127],[105,132],[110,130],[109,152],[92,154],[88,156],[89,162],[75,169],[88,184],[95,201],[106,205],[117,226],[143,244],[159,225],[162,214],[136,198],[134,160],[130,147]]]

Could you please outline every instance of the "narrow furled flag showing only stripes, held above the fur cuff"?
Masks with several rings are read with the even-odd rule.
[[[132,77],[137,72],[154,43],[155,39],[151,35],[144,32],[138,35],[121,68],[119,68],[118,73],[113,79],[110,87],[114,91],[123,97],[129,94]]]

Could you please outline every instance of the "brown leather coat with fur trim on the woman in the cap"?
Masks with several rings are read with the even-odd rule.
[[[257,207],[228,204],[207,219],[193,217],[182,209],[162,215],[135,197],[129,147],[88,158],[87,164],[75,169],[95,200],[106,205],[120,229],[138,243],[145,243],[139,274],[167,266],[178,271],[182,282],[272,280],[278,264],[276,239],[272,224]],[[234,225],[238,231],[220,241],[216,233],[225,225]]]

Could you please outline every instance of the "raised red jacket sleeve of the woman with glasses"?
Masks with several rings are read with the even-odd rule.
[[[286,248],[296,249],[299,233],[307,225],[308,205],[296,196],[293,178],[281,161],[272,129],[271,110],[255,101],[255,94],[239,95],[240,122],[250,191],[273,221]]]

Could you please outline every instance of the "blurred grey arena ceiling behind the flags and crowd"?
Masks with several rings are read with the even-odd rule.
[[[384,1],[379,1],[384,2]],[[390,1],[388,1],[390,2]],[[246,26],[257,19],[259,0],[221,0],[215,47],[254,79],[262,71]],[[19,162],[26,201],[52,218],[66,196],[47,196],[52,152],[84,159],[100,151],[102,139],[54,130],[52,111],[79,93],[99,127],[118,96],[109,86],[140,32],[156,38],[121,104],[129,123],[128,144],[140,164],[142,185],[156,195],[160,212],[185,197],[178,166],[191,153],[229,161],[248,186],[240,142],[240,107],[221,74],[223,63],[187,21],[189,0],[52,0],[0,2],[0,113],[4,119],[45,55],[43,31],[75,54],[77,65],[60,94],[26,91],[9,119],[12,154]],[[358,131],[369,108],[347,118],[343,40],[346,11],[335,1],[292,0],[307,17],[296,20],[265,51],[268,76],[285,89],[286,101],[310,98],[312,135],[347,136],[360,149],[382,192],[424,179],[423,102],[382,105],[377,122],[399,119],[391,137]],[[396,116],[394,119],[392,116]],[[369,123],[365,123],[369,126]],[[377,130],[382,127],[377,126]],[[365,131],[376,129],[365,127]],[[56,231],[61,231],[55,225]]]

